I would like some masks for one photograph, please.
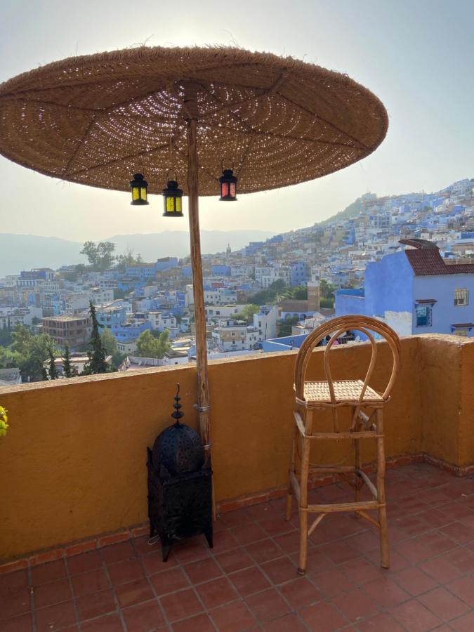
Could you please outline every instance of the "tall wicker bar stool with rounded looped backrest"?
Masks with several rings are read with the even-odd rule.
[[[369,338],[371,343],[371,360],[364,380],[334,381],[329,367],[329,354],[334,342],[345,331],[360,331]],[[377,345],[373,334],[378,334],[388,343],[392,352],[392,371],[390,379],[383,393],[378,393],[369,386],[369,380],[374,372],[377,357]],[[312,350],[329,337],[323,353],[325,381],[306,381],[305,374]],[[395,331],[383,322],[367,316],[343,316],[335,318],[312,331],[305,338],[296,357],[295,367],[295,400],[294,411],[295,431],[291,466],[289,468],[287,494],[287,520],[291,518],[292,496],[296,496],[299,507],[300,520],[300,553],[298,573],[304,574],[308,558],[308,537],[320,524],[328,513],[351,511],[369,520],[376,526],[380,534],[381,565],[388,568],[390,555],[388,551],[387,514],[385,499],[385,452],[383,445],[383,407],[390,399],[400,365],[400,340]],[[348,431],[340,431],[338,412],[350,409],[351,423]],[[315,411],[331,411],[333,431],[317,432],[313,430],[313,415]],[[351,440],[351,449],[347,459],[334,465],[315,465],[310,463],[310,445],[312,441],[321,440]],[[376,484],[371,482],[362,470],[362,455],[360,440],[375,439],[377,445],[377,473]],[[301,447],[301,450],[300,450]],[[341,463],[353,456],[353,465],[342,466]],[[355,490],[355,501],[329,504],[308,504],[308,479],[318,474],[341,475]],[[367,485],[371,492],[371,500],[361,499],[361,489]],[[369,515],[367,511],[376,510],[378,519]],[[312,524],[308,526],[308,515],[317,514]]]

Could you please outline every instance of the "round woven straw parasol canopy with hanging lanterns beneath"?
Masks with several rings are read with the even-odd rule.
[[[48,176],[128,190],[140,171],[186,192],[185,89],[197,91],[199,195],[222,161],[239,193],[343,169],[386,135],[378,98],[344,74],[237,48],[140,47],[53,62],[0,85],[0,152]]]

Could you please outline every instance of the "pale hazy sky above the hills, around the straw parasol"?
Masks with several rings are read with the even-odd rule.
[[[337,173],[236,204],[199,202],[201,228],[283,232],[366,192],[432,192],[474,177],[473,0],[2,0],[0,81],[73,55],[148,46],[238,45],[350,77],[386,106],[380,147]],[[63,183],[0,157],[0,232],[83,242],[187,230],[162,201]],[[185,202],[185,209],[186,209]]]

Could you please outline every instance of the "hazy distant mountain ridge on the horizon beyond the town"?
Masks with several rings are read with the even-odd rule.
[[[272,237],[274,232],[265,230],[202,230],[201,249],[203,254],[223,252],[230,244],[239,250],[249,242],[258,242]],[[117,254],[131,248],[144,261],[156,261],[166,256],[185,257],[190,254],[189,233],[166,230],[150,235],[115,235],[103,241],[114,242]],[[16,275],[30,268],[60,268],[61,265],[86,263],[80,253],[81,242],[70,242],[58,237],[37,235],[14,235],[0,233],[0,277]]]

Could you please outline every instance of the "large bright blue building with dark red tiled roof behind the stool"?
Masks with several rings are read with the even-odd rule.
[[[369,263],[364,291],[336,291],[336,316],[380,317],[400,335],[474,336],[474,265],[448,264],[432,246]]]

